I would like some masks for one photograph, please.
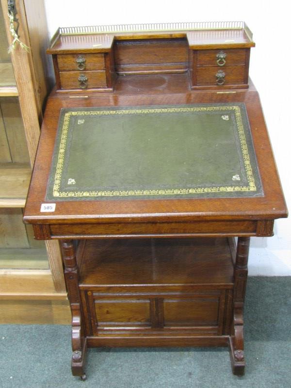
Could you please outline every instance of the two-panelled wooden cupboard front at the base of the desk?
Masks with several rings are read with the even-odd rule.
[[[228,315],[226,290],[187,293],[103,294],[81,291],[94,336],[115,332],[191,331],[221,335]],[[91,335],[88,333],[87,335]]]

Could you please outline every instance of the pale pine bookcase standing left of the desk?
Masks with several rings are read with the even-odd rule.
[[[65,323],[59,244],[36,242],[22,222],[49,91],[44,2],[15,1],[18,35],[30,50],[16,45],[11,54],[7,0],[0,4],[0,323]]]

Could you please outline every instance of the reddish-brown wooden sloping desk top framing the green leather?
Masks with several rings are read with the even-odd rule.
[[[58,201],[55,211],[40,211],[41,205],[49,202],[46,191],[62,108],[236,102],[246,107],[263,196]],[[36,238],[170,236],[177,233],[268,236],[272,235],[273,220],[286,216],[259,95],[253,85],[248,90],[228,93],[200,92],[190,90],[186,74],[130,76],[120,77],[113,93],[88,96],[80,93],[71,97],[55,93],[49,97],[24,213],[24,221],[34,224]]]

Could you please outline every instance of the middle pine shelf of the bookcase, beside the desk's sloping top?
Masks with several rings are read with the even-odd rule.
[[[23,208],[31,177],[28,164],[0,164],[0,208]]]

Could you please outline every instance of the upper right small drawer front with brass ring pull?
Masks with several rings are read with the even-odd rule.
[[[198,50],[197,66],[237,66],[246,63],[245,49]]]

